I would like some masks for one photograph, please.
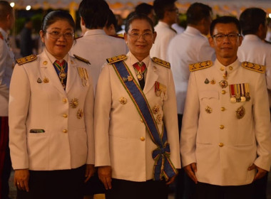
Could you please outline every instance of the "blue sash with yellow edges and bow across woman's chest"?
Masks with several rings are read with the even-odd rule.
[[[148,100],[140,89],[140,85],[138,85],[138,82],[134,79],[126,63],[119,61],[117,63],[112,63],[112,65],[121,81],[121,84],[128,92],[133,104],[135,104],[138,114],[140,114],[141,119],[143,119],[145,127],[150,134],[150,138],[158,147],[152,154],[155,161],[153,167],[154,179],[155,181],[161,181],[164,178],[168,181],[168,178],[175,176],[177,170],[170,161],[170,146],[168,144],[167,131],[163,126],[162,132],[159,132],[155,118],[153,117],[150,109],[150,105],[148,104]]]

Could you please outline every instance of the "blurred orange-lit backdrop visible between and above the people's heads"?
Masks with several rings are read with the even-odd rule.
[[[259,7],[266,11],[268,18],[268,31],[266,41],[271,41],[271,2],[268,0],[261,1],[200,1],[207,4],[213,9],[213,18],[223,15],[236,16],[239,18],[242,11],[249,7]],[[78,15],[78,4],[80,1],[60,0],[60,1],[10,1],[11,6],[14,7],[16,22],[11,31],[10,38],[12,48],[14,50],[15,58],[31,55],[32,53],[38,54],[41,52],[41,42],[39,41],[39,31],[41,28],[41,20],[43,16],[52,10],[69,11],[73,19],[76,21],[76,37],[82,36],[80,27],[80,17]],[[135,11],[136,6],[141,3],[153,5],[153,1],[148,0],[130,0],[130,1],[107,1],[115,18],[113,23],[116,28],[118,36],[123,36],[124,23],[126,18]],[[186,11],[194,1],[176,1],[175,5],[178,8],[178,23],[173,24],[173,28],[177,33],[182,33],[186,26]],[[143,8],[146,9],[146,8]],[[154,12],[153,12],[154,14]],[[155,23],[158,19],[154,17]]]

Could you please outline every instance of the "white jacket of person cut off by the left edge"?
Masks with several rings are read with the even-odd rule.
[[[14,67],[14,53],[8,42],[8,34],[0,28],[0,117],[9,114],[9,85]]]

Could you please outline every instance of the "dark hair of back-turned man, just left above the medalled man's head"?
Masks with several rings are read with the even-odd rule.
[[[188,11],[186,12],[187,23],[198,25],[200,20],[209,17],[211,12],[212,8],[210,6],[201,3],[194,3],[188,8]]]

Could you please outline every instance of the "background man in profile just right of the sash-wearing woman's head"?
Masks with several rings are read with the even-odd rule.
[[[171,28],[177,22],[178,9],[176,0],[155,0],[153,8],[158,18],[158,24],[154,27],[157,37],[153,47],[150,49],[150,57],[157,57],[168,61],[167,52],[170,40],[176,35]]]

